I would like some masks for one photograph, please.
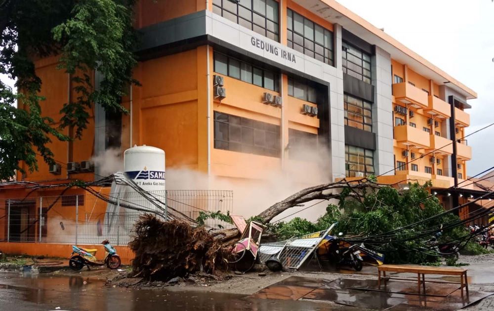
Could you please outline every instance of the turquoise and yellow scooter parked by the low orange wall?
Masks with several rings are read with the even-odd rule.
[[[106,256],[105,259],[100,262],[96,260],[97,249],[87,249],[72,245],[72,254],[69,257],[69,267],[73,270],[81,270],[82,267],[87,266],[104,266],[110,269],[117,269],[122,265],[120,256],[117,254],[117,250],[110,245],[110,241],[104,240],[101,242],[105,247]]]

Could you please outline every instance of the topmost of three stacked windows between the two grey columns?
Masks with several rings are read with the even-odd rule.
[[[366,83],[371,83],[371,54],[342,42],[343,72]]]

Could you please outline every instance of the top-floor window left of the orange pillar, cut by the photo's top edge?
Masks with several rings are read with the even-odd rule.
[[[213,13],[279,41],[278,2],[275,0],[213,0]]]

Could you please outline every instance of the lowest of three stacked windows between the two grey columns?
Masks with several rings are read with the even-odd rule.
[[[358,177],[374,174],[373,151],[355,146],[345,145],[345,166],[347,177]]]

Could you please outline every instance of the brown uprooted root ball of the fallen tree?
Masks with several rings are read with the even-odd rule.
[[[228,268],[230,248],[214,239],[205,227],[192,227],[185,222],[164,222],[145,214],[135,223],[129,243],[135,258],[135,276],[148,280],[168,280],[196,272],[214,274]]]

